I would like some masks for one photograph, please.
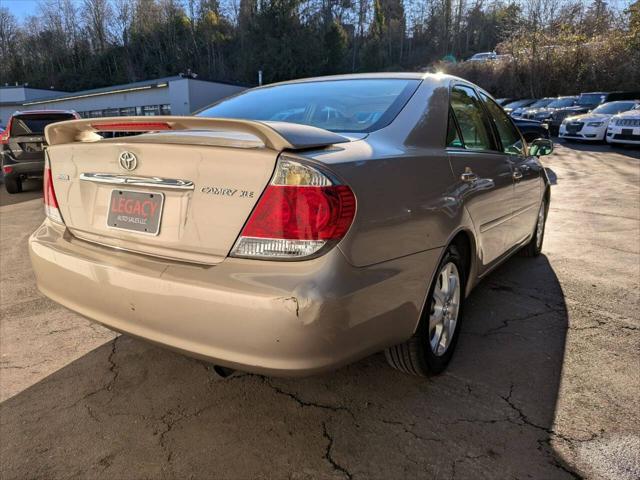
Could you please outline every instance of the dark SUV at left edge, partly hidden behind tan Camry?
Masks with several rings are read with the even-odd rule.
[[[0,156],[4,186],[9,193],[20,193],[22,182],[42,177],[44,172],[44,127],[54,122],[80,118],[70,110],[32,110],[15,112],[0,134]]]

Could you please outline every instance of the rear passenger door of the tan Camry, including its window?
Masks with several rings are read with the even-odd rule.
[[[491,121],[474,89],[451,89],[447,152],[478,238],[480,272],[506,251],[513,212],[513,171],[497,151]]]

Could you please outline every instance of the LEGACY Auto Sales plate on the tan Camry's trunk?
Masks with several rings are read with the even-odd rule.
[[[128,217],[129,219],[143,219],[142,215],[136,214],[135,212],[121,212],[114,211],[114,197],[118,198],[119,196],[124,196],[125,202],[127,200],[137,200],[138,202],[147,201],[151,202],[151,204],[155,205],[155,209],[153,210],[153,218],[151,219],[151,223],[141,223],[136,221],[125,221],[122,218],[118,218],[118,216]],[[159,199],[159,201],[158,201]],[[148,205],[148,204],[147,204]],[[122,204],[119,204],[119,207],[122,207]],[[135,207],[133,207],[135,209]],[[141,205],[141,209],[144,207]],[[162,225],[162,213],[164,211],[164,193],[161,192],[145,192],[141,190],[130,190],[128,188],[114,188],[111,190],[109,194],[109,205],[107,206],[107,228],[112,230],[120,230],[129,233],[135,233],[139,235],[149,235],[149,236],[158,236],[160,234],[160,226]],[[116,217],[116,218],[114,218]]]

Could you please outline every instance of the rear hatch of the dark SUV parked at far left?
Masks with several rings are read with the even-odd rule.
[[[71,113],[25,113],[14,115],[9,130],[8,150],[16,162],[44,160],[44,128],[54,122],[74,119]]]

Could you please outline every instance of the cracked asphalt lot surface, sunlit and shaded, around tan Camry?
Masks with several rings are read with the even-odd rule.
[[[544,254],[482,282],[429,379],[381,354],[222,379],[116,336],[37,291],[42,202],[3,192],[0,478],[640,478],[640,152],[561,145],[545,164]]]

